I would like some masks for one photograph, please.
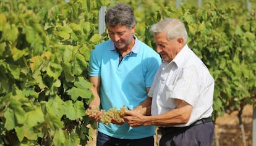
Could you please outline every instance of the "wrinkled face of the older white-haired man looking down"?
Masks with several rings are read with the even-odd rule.
[[[168,40],[166,33],[155,33],[154,40],[156,52],[161,55],[165,62],[171,62],[184,46],[182,38]]]

